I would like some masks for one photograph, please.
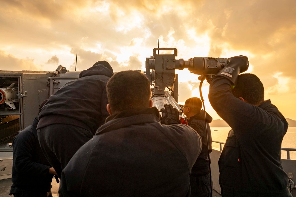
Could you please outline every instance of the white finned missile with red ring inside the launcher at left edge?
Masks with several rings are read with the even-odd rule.
[[[12,83],[6,88],[0,88],[0,105],[6,103],[12,109],[15,109],[13,102],[18,102],[17,88],[14,88],[15,84]]]

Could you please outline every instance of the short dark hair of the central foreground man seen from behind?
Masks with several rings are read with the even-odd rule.
[[[150,81],[139,71],[121,71],[107,82],[107,97],[112,113],[149,108]]]

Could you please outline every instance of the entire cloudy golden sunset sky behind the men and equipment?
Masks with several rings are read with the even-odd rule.
[[[286,118],[296,120],[296,1],[0,0],[0,69],[75,70],[108,61],[115,72],[145,70],[157,48],[178,56],[248,56],[250,68]],[[197,75],[179,74],[179,103],[200,97]],[[211,108],[203,85],[206,110]]]

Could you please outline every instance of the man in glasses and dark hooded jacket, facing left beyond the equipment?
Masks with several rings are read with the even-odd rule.
[[[209,149],[212,152],[212,136],[209,123],[213,118],[206,112],[207,129],[205,128],[205,111],[201,110],[202,102],[197,97],[185,101],[184,114],[188,118],[188,125],[202,137],[202,151],[196,159],[190,175],[191,197],[207,197],[211,195]]]

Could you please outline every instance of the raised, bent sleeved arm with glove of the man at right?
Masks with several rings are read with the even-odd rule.
[[[218,115],[233,129],[239,141],[247,141],[259,135],[275,119],[262,108],[234,97],[232,93],[239,73],[246,70],[249,62],[244,56],[229,60],[227,66],[211,80],[209,100]]]

